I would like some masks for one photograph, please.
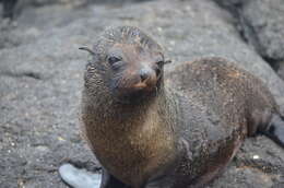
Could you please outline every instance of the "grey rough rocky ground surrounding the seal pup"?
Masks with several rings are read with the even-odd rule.
[[[167,69],[199,57],[234,60],[268,84],[284,111],[284,82],[269,64],[284,75],[283,1],[258,1],[257,9],[252,0],[35,1],[17,5],[13,23],[0,20],[1,188],[67,187],[58,176],[66,161],[99,172],[80,137],[86,54],[78,48],[111,25],[149,32],[174,60]],[[269,2],[273,14],[265,13]],[[247,139],[209,187],[284,187],[284,150],[265,137]]]

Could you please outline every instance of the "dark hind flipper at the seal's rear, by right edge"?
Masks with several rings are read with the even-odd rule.
[[[270,126],[263,134],[269,137],[275,143],[284,149],[284,118],[279,115],[273,115]]]

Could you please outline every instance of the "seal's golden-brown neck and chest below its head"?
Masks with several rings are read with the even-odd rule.
[[[90,108],[83,109],[85,133],[99,162],[131,185],[140,185],[155,172],[164,171],[159,162],[167,166],[176,153],[175,114],[165,89],[133,105],[107,103],[108,96],[104,97],[104,104],[85,103]]]

